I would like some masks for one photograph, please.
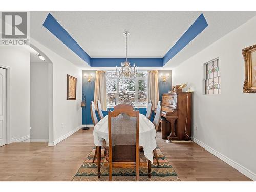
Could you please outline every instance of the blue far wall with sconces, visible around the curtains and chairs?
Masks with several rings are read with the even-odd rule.
[[[167,74],[169,73],[169,77],[167,78],[166,82],[163,82],[161,79],[161,74]],[[87,78],[84,78],[84,75],[92,75],[93,78],[91,82],[88,82]],[[86,95],[86,109],[82,109],[82,124],[93,124],[92,118],[91,118],[91,111],[90,111],[90,104],[91,101],[94,99],[94,86],[95,86],[95,76],[96,72],[95,70],[82,70],[82,93]],[[158,86],[159,86],[159,100],[162,99],[163,93],[168,93],[171,88],[172,83],[172,70],[158,70]],[[108,108],[108,110],[113,110],[113,108]],[[146,108],[139,108],[139,111],[141,114],[146,115]],[[97,118],[99,120],[98,113],[96,112]],[[108,115],[107,111],[103,111],[103,115]],[[151,116],[151,121],[153,121],[154,112]]]

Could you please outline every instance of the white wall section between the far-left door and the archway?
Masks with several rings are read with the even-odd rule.
[[[20,47],[0,47],[0,66],[10,68],[11,142],[30,138],[29,134],[29,52]]]

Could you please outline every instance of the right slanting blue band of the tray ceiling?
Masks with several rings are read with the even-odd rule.
[[[208,23],[206,22],[206,19],[202,13],[188,28],[188,30],[180,37],[176,44],[164,55],[163,66],[177,53],[179,53],[187,44],[189,44],[189,42],[193,40],[199,33],[201,33],[207,26]]]

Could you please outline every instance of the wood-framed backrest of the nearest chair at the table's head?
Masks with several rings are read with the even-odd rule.
[[[108,112],[109,162],[134,162],[139,159],[139,110],[118,104]]]

